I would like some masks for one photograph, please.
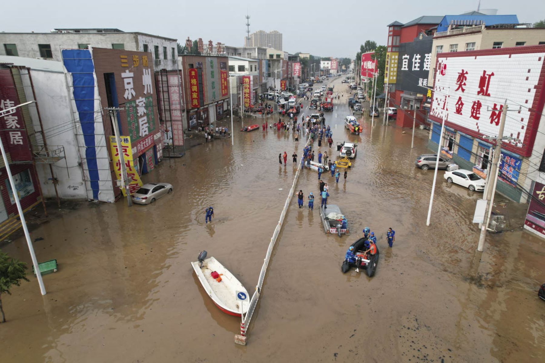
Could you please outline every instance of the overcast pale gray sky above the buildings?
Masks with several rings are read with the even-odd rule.
[[[452,15],[475,10],[477,0],[456,1],[123,1],[73,0],[5,1],[0,30],[49,32],[53,28],[119,28],[205,43],[211,39],[230,46],[244,45],[246,11],[250,32],[278,30],[283,50],[322,57],[355,57],[370,39],[386,43],[386,25],[407,23],[422,15]],[[88,4],[88,5],[87,5]],[[545,18],[543,0],[482,0],[481,9],[516,14],[519,22]]]

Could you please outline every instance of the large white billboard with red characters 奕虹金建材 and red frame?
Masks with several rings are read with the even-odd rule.
[[[503,103],[504,149],[530,156],[543,110],[545,46],[438,54],[430,118],[477,138],[496,137]],[[447,99],[447,90],[450,90]]]

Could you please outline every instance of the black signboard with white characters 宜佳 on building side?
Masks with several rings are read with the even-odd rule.
[[[432,36],[422,36],[422,39],[415,38],[412,42],[399,45],[400,61],[397,64],[396,89],[426,93],[424,87],[428,85],[432,42]]]

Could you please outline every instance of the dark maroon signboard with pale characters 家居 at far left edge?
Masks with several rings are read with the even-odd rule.
[[[15,107],[19,104],[19,95],[9,69],[0,70],[0,110]],[[3,129],[2,142],[12,161],[32,160],[28,145],[25,120],[21,108],[0,117],[0,127]]]

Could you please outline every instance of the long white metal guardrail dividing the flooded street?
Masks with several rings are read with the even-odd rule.
[[[301,115],[301,119],[303,115],[304,114]],[[311,140],[310,137],[308,137],[305,146],[308,146],[308,143],[310,143],[310,140]],[[280,233],[280,230],[282,229],[282,225],[284,223],[284,217],[286,217],[286,213],[289,207],[289,202],[292,200],[292,197],[295,193],[295,186],[297,184],[297,181],[299,180],[299,174],[301,173],[302,168],[303,168],[303,165],[302,165],[302,157],[301,157],[301,162],[298,164],[297,171],[295,172],[292,188],[289,189],[288,198],[286,198],[286,202],[284,203],[284,207],[282,208],[280,219],[278,220],[278,224],[276,225],[276,228],[274,232],[272,233],[271,242],[269,243],[269,247],[267,248],[267,254],[265,255],[263,266],[261,267],[261,272],[259,273],[259,279],[257,280],[256,291],[253,293],[252,298],[250,299],[250,306],[248,308],[248,311],[245,314],[243,314],[241,317],[240,335],[235,336],[235,343],[246,345],[247,329],[250,327],[250,322],[252,321],[253,312],[256,310],[257,302],[261,294],[261,288],[263,287],[265,274],[267,274],[267,267],[269,266],[272,249],[274,249],[274,246],[276,244],[276,239],[278,238],[278,234]]]

